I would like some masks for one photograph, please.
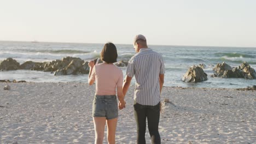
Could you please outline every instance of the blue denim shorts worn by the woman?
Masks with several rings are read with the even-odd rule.
[[[118,104],[115,95],[95,95],[92,103],[92,117],[118,117]]]

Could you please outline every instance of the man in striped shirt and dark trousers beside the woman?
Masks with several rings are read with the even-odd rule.
[[[152,143],[161,143],[158,125],[160,118],[160,93],[164,85],[164,61],[162,56],[148,48],[146,38],[136,35],[133,46],[137,52],[127,66],[123,84],[126,94],[133,75],[135,75],[134,113],[137,123],[137,143],[146,143],[146,119]]]

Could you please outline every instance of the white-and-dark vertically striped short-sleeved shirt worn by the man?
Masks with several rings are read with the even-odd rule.
[[[157,105],[160,102],[159,74],[165,73],[162,56],[150,48],[140,49],[127,66],[126,75],[135,75],[134,100],[141,105]]]

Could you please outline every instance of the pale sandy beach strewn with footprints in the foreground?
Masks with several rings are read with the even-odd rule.
[[[88,83],[0,83],[1,143],[94,143]],[[164,87],[162,143],[256,143],[256,92]],[[119,111],[116,142],[135,143],[133,86]],[[147,143],[150,136],[147,130]],[[106,135],[104,143],[106,141]]]

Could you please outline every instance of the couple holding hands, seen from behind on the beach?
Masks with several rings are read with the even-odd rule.
[[[164,85],[164,61],[162,56],[148,48],[146,38],[139,34],[133,41],[137,52],[129,61],[125,80],[123,71],[113,63],[117,62],[117,47],[113,43],[104,45],[101,51],[103,63],[89,62],[89,85],[96,81],[95,97],[92,104],[95,143],[102,143],[107,124],[108,143],[115,143],[115,130],[118,122],[118,107],[124,109],[125,94],[135,75],[134,113],[137,123],[137,143],[146,143],[146,119],[152,143],[161,143],[158,125],[160,118],[160,93]],[[116,92],[117,89],[117,92]],[[118,95],[119,104],[117,103]]]

